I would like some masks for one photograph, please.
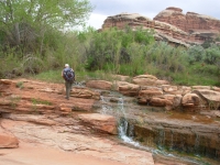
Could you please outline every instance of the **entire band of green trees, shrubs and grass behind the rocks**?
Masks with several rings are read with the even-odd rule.
[[[177,85],[220,86],[220,46],[215,41],[186,48],[156,42],[154,31],[141,26],[64,31],[84,24],[91,10],[87,0],[2,1],[0,78],[31,75],[62,82],[61,70],[68,63],[77,81],[151,74]]]

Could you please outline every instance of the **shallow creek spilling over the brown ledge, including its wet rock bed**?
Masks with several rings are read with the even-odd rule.
[[[118,139],[125,145],[151,152],[154,160],[167,164],[219,164],[220,144],[212,139],[212,131],[219,130],[220,124],[210,117],[140,106],[135,98],[110,91],[101,91],[96,111],[114,116]]]

